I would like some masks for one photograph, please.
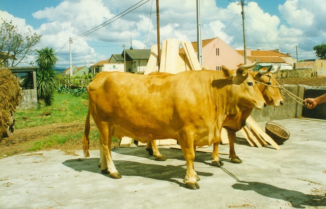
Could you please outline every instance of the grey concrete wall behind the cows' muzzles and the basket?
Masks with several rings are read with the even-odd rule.
[[[292,92],[294,95],[304,99],[305,88],[303,85],[284,85],[284,88]],[[253,119],[257,122],[270,120],[283,120],[290,118],[297,118],[302,116],[303,106],[295,102],[287,93],[281,91],[284,100],[284,105],[275,108],[267,106],[263,110],[254,109],[251,113]]]

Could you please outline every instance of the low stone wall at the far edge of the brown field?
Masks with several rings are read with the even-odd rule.
[[[308,68],[308,69],[291,69],[291,70],[281,70],[274,75],[274,77],[282,79],[282,78],[315,78],[319,75],[317,73],[317,68]]]

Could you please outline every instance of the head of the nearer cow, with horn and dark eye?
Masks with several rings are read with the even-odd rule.
[[[227,98],[236,104],[230,113],[235,114],[247,108],[263,109],[266,107],[265,100],[259,91],[255,80],[249,71],[256,66],[257,60],[252,64],[240,65],[238,69],[231,70],[222,66],[224,75],[231,80],[230,93]]]

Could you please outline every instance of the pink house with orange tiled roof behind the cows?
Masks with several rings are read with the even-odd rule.
[[[192,45],[197,54],[197,42],[192,42]],[[209,69],[221,71],[222,65],[229,69],[236,69],[238,64],[244,63],[243,55],[219,37],[203,40],[202,47],[203,65]],[[179,50],[179,53],[183,53],[183,48]],[[253,62],[247,58],[247,64],[251,63]]]

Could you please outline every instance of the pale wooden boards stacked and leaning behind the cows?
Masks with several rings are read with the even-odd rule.
[[[196,52],[191,42],[181,41],[183,47],[183,53],[179,53],[179,41],[176,39],[168,39],[162,42],[161,59],[160,59],[160,73],[177,74],[182,71],[198,71],[201,70]],[[144,75],[148,75],[156,71],[157,66],[157,45],[153,45],[151,48],[151,55],[149,57]],[[247,119],[248,125],[242,128],[240,131],[249,142],[251,146],[268,145],[267,142],[275,149],[279,150],[280,147],[274,142],[270,136],[268,136],[263,129],[251,118]],[[227,130],[222,128],[221,143],[229,144],[229,138]],[[133,139],[130,137],[123,137],[120,143],[120,147],[130,147],[133,143]],[[172,139],[157,140],[156,145],[176,145],[177,141]],[[138,142],[138,146],[146,146],[146,144]]]

